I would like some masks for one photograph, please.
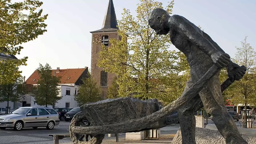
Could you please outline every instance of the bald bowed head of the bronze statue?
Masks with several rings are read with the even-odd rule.
[[[167,35],[170,31],[168,20],[170,15],[164,9],[156,8],[149,14],[148,24],[158,35]]]

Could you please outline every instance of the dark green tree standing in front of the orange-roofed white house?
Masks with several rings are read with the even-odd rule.
[[[55,103],[62,97],[59,96],[61,77],[52,75],[51,66],[46,63],[45,66],[39,63],[39,67],[36,69],[40,74],[40,80],[38,80],[38,87],[35,93],[35,100],[39,106],[55,105]]]

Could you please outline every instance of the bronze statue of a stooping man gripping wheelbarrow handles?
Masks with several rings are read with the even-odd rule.
[[[210,36],[186,18],[179,15],[170,16],[165,10],[157,8],[150,13],[148,23],[157,35],[167,35],[170,32],[172,44],[186,55],[191,68],[191,78],[184,92],[214,64],[220,68],[227,67],[228,76],[233,80],[239,80],[244,76],[244,69],[231,62],[229,55]],[[201,100],[227,144],[248,144],[239,134],[233,118],[225,107],[219,73],[212,77],[199,95],[178,111],[183,144],[196,144],[194,110],[195,104]]]

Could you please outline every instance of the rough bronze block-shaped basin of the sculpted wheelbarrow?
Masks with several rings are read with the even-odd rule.
[[[160,110],[158,100],[130,97],[106,99],[80,107],[91,126],[116,124],[148,116]]]

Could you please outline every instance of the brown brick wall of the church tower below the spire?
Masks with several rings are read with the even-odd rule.
[[[102,39],[102,36],[108,36],[108,39],[112,39],[112,38],[118,39],[117,32],[92,33],[92,38],[93,38],[93,35],[100,35],[101,39]],[[111,46],[111,44],[108,44],[108,47],[109,46]],[[101,43],[100,44],[93,44],[92,43],[91,74],[92,74],[92,77],[97,81],[97,83],[99,85],[100,85],[100,72],[103,70],[103,68],[99,68],[97,66],[100,50],[101,50]],[[115,74],[108,73],[108,85],[106,87],[103,87],[103,86],[101,87],[102,88],[102,93],[103,93],[102,98],[106,97],[108,87],[110,87],[114,77],[115,77]]]

